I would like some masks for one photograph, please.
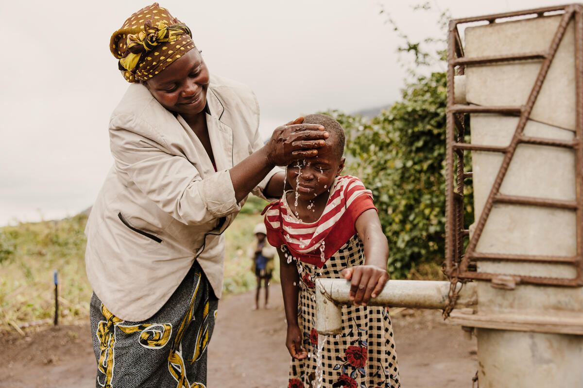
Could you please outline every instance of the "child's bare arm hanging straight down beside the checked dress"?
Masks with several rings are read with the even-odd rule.
[[[287,337],[286,347],[291,357],[302,359],[308,356],[308,351],[302,346],[303,335],[297,324],[297,297],[300,290],[300,276],[297,273],[296,263],[287,262],[282,250],[278,249],[279,272],[282,282],[283,305],[286,310]]]

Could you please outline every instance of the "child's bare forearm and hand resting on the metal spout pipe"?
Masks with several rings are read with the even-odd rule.
[[[364,265],[346,268],[342,275],[350,282],[350,300],[355,305],[366,306],[371,297],[375,298],[384,289],[389,274],[387,259],[389,245],[382,233],[381,222],[375,209],[364,211],[356,219],[356,232],[364,244]]]

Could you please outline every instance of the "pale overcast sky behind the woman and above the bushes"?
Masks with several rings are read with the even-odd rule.
[[[153,1],[152,1],[153,2]],[[149,1],[0,2],[0,225],[89,207],[113,160],[108,119],[128,84],[108,43]],[[248,84],[265,137],[301,114],[388,105],[405,72],[399,38],[437,37],[437,10],[480,16],[554,0],[160,0],[192,30],[211,73]]]

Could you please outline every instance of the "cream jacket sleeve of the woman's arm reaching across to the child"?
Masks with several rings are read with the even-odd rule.
[[[131,182],[128,184],[135,184],[160,209],[180,222],[208,223],[241,209],[228,170],[202,179],[188,159],[168,154],[162,144],[117,126],[115,118],[110,126],[110,141],[115,168],[127,175]]]

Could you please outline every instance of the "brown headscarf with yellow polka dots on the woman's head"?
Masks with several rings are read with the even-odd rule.
[[[111,35],[110,50],[128,82],[146,81],[194,48],[190,29],[158,3],[130,16]]]

